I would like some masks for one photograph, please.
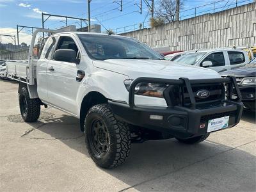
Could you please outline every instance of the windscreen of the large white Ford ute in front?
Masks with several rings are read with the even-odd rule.
[[[94,60],[164,60],[147,45],[131,38],[114,35],[78,34],[87,54]]]

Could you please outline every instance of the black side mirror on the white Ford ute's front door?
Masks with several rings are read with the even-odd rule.
[[[65,61],[69,63],[79,63],[79,59],[76,58],[76,51],[72,49],[58,49],[54,52],[54,60]]]

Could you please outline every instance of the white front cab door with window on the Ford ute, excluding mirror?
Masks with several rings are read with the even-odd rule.
[[[55,51],[59,49],[72,49],[76,51],[77,57],[81,52],[72,35],[60,36]],[[50,104],[74,115],[77,113],[76,95],[80,85],[76,81],[78,70],[78,64],[56,61],[54,58],[47,65]]]

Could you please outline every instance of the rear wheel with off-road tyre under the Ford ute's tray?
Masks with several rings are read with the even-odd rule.
[[[23,86],[19,92],[20,114],[24,122],[36,122],[40,116],[40,100],[30,99],[28,88]]]

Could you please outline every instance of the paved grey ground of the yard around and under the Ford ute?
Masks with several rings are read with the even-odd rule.
[[[97,167],[79,120],[42,108],[22,122],[18,84],[0,80],[0,191],[256,191],[255,113],[198,145],[133,144],[125,164]]]

